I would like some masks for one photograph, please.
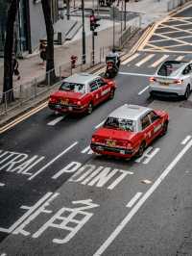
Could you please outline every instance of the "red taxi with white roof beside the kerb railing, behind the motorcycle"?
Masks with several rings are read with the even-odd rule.
[[[99,103],[112,99],[116,84],[98,75],[79,73],[64,79],[50,95],[48,106],[59,113],[91,114]]]

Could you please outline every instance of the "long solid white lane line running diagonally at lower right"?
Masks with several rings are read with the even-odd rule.
[[[192,146],[192,140],[189,141],[185,147],[182,148],[180,153],[177,155],[177,157],[171,162],[169,166],[167,166],[164,171],[161,173],[161,175],[157,178],[156,182],[152,187],[140,198],[140,200],[135,204],[135,206],[132,208],[130,213],[124,218],[121,223],[115,228],[115,230],[111,233],[111,235],[108,237],[107,241],[104,242],[99,249],[93,254],[93,256],[100,256],[102,255],[105,250],[108,248],[110,243],[114,241],[114,239],[119,235],[119,233],[124,229],[124,227],[130,222],[132,217],[138,212],[138,210],[141,208],[141,206],[145,203],[145,201],[152,195],[153,192],[156,191],[157,187],[160,185],[160,183],[165,179],[165,177],[169,174],[169,172],[178,164],[182,156],[189,150],[189,148]]]

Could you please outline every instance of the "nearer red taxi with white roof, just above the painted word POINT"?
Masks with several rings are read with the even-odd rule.
[[[167,132],[169,116],[164,111],[125,104],[108,115],[91,139],[99,154],[123,158],[140,157],[145,148]]]

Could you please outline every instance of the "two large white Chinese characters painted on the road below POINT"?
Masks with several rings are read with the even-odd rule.
[[[47,208],[59,195],[60,193],[58,192],[47,192],[34,206],[21,206],[20,208],[27,210],[27,212],[14,222],[10,228],[0,227],[0,232],[12,233],[15,235],[20,234],[23,236],[31,235],[31,233],[26,230],[27,226],[29,226],[29,224],[40,214],[52,214],[53,211]],[[64,230],[65,232],[63,232],[64,235],[62,239],[55,238],[53,243],[67,243],[77,234],[89,218],[93,216],[93,214],[89,213],[87,210],[99,206],[98,204],[93,203],[92,199],[73,201],[72,204],[74,205],[73,208],[62,207],[32,235],[32,238],[38,238],[48,228],[54,228]]]

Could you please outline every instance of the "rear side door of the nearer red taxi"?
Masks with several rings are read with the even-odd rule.
[[[151,122],[149,115],[143,115],[141,117],[141,129],[142,134],[144,136],[145,142],[149,144],[151,141],[153,141],[153,133],[154,133],[154,126]]]

